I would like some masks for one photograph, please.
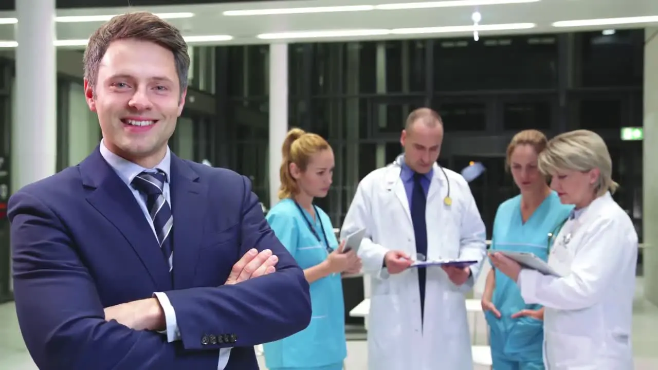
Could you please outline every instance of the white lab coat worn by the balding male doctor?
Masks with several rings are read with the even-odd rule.
[[[370,276],[368,369],[470,370],[470,332],[465,292],[472,288],[486,256],[486,232],[466,180],[434,165],[427,196],[427,258],[463,257],[480,261],[472,277],[457,287],[440,267],[427,271],[424,325],[420,321],[417,269],[396,275],[382,268],[384,254],[401,250],[415,255],[409,201],[399,165],[370,172],[359,184],[343,221],[341,237],[366,228],[359,246],[363,271]]]

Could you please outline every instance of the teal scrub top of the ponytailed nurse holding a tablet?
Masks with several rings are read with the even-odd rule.
[[[338,248],[338,240],[329,216],[316,207],[318,217],[313,220],[304,209],[299,210],[292,199],[282,199],[266,215],[270,228],[295,258],[301,269],[308,269],[324,261],[329,252],[325,239],[332,250]],[[315,227],[316,236],[307,221]],[[320,222],[322,220],[322,227]],[[268,369],[301,368],[322,369],[328,365],[342,367],[347,356],[345,342],[345,304],[340,273],[320,278],[311,283],[313,313],[309,326],[288,338],[263,345]]]

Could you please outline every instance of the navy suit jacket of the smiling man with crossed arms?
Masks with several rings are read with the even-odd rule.
[[[16,313],[39,369],[258,369],[255,344],[303,330],[309,284],[247,178],[171,158],[173,277],[128,186],[98,148],[9,199]],[[251,248],[276,273],[223,285]],[[105,321],[104,307],[165,292],[182,339]],[[222,338],[209,340],[209,338]],[[228,343],[226,343],[228,341]]]

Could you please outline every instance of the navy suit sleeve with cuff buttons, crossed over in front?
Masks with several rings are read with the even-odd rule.
[[[311,321],[311,297],[304,272],[265,221],[249,180],[242,176],[242,182],[236,257],[251,248],[270,249],[279,258],[276,272],[234,285],[165,292],[176,311],[182,344],[188,350],[272,342],[305,329]],[[203,344],[201,338],[209,334],[228,335],[234,342]]]

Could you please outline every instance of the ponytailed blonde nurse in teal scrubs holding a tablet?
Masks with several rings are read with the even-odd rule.
[[[341,370],[347,356],[341,275],[361,270],[354,251],[343,253],[329,216],[313,204],[332,183],[334,152],[322,137],[293,128],[282,148],[279,203],[266,219],[311,284],[309,326],[267,343],[270,370]]]

